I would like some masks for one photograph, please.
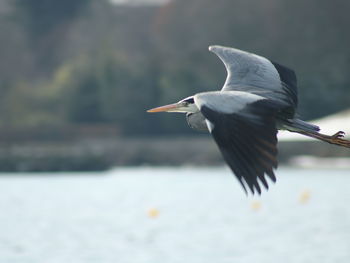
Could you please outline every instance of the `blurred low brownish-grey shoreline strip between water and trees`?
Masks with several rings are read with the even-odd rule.
[[[291,162],[296,165],[298,156],[341,157],[344,165],[350,157],[345,148],[313,141],[280,142],[278,149],[281,165]],[[107,136],[0,144],[0,172],[104,171],[143,165],[218,166],[224,162],[210,136]]]

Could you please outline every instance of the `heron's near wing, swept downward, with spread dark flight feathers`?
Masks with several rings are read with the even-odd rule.
[[[252,193],[260,194],[259,181],[268,189],[265,174],[276,181],[275,115],[280,105],[241,91],[200,93],[194,100],[244,190],[246,184]]]

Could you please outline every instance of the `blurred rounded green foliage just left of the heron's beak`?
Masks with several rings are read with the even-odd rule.
[[[153,99],[145,73],[132,71],[113,51],[101,50],[64,64],[51,88],[59,91],[67,122],[115,124],[125,133],[140,133],[147,130],[145,110]]]

